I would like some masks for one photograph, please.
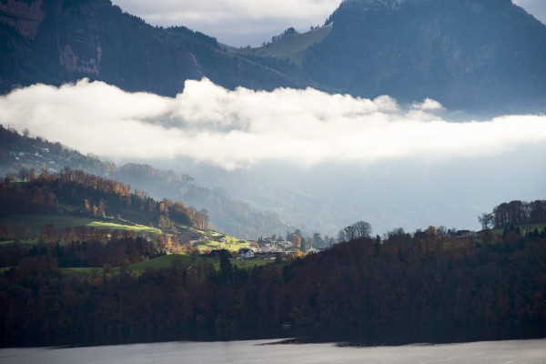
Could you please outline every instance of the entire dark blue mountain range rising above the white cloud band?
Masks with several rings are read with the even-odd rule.
[[[325,25],[229,50],[184,26],[147,25],[108,0],[3,0],[0,92],[89,77],[174,96],[205,76],[229,88],[313,86],[468,111],[544,111],[546,25],[511,0],[346,0]]]

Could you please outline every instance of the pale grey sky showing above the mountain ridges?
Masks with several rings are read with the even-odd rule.
[[[546,23],[546,0],[513,0]],[[323,25],[340,0],[113,0],[152,25],[185,25],[227,45],[261,45],[289,26]]]

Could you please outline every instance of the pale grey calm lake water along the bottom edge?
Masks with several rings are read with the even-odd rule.
[[[278,342],[278,340],[166,342],[86,348],[0,349],[0,363],[546,363],[546,339],[392,347]]]

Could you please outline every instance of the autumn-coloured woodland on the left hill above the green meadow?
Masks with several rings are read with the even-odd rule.
[[[19,176],[0,181],[0,215],[38,213],[67,214],[66,205],[78,207],[76,213],[96,217],[123,216],[133,222],[162,228],[176,224],[204,229],[207,211],[197,211],[168,198],[157,201],[144,191],[114,179],[97,177],[68,167],[59,173],[46,168],[37,174],[22,169]]]

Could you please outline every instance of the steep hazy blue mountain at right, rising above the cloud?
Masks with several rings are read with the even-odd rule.
[[[332,91],[542,109],[546,26],[511,0],[346,0],[304,69]]]

